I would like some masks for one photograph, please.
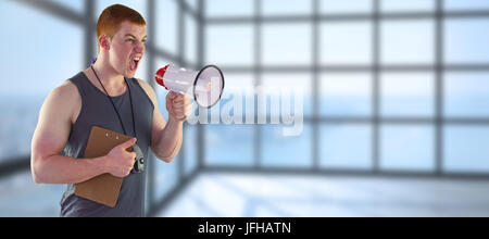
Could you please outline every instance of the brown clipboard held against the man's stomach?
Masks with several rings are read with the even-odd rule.
[[[85,159],[106,155],[114,147],[131,139],[116,131],[93,126],[85,150]],[[129,147],[127,151],[133,151]],[[75,185],[75,194],[111,207],[117,203],[124,178],[111,174],[102,174]]]

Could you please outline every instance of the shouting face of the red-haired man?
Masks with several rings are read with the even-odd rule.
[[[112,67],[126,78],[133,78],[145,54],[146,26],[125,21],[112,37],[110,62]]]

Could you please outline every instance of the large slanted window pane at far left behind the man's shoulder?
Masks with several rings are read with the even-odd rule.
[[[20,17],[28,16],[28,17]],[[13,1],[0,2],[0,162],[27,159],[46,97],[86,66],[83,28]],[[95,40],[95,39],[93,39]]]

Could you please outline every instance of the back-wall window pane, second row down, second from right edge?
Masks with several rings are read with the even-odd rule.
[[[381,23],[383,64],[434,64],[434,22]]]

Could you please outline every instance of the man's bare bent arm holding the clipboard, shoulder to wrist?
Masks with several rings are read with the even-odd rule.
[[[76,184],[106,173],[104,156],[77,160],[60,155],[79,108],[79,93],[71,83],[55,88],[42,104],[32,141],[30,168],[36,184]]]

